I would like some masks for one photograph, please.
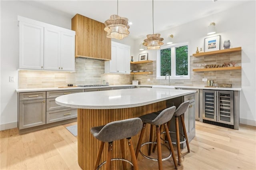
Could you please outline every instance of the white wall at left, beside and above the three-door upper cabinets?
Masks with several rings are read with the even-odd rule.
[[[71,29],[71,18],[30,6],[22,1],[1,1],[0,130],[17,127],[19,32],[17,16]],[[15,76],[14,83],[9,76]]]

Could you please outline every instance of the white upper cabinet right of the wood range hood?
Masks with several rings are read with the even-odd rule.
[[[111,60],[105,61],[105,73],[130,73],[130,46],[111,42]]]

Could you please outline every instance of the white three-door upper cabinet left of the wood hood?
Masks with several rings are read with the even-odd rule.
[[[75,70],[75,32],[18,16],[20,69]]]

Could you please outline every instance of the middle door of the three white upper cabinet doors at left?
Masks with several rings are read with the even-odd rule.
[[[44,28],[44,69],[60,70],[61,32]]]

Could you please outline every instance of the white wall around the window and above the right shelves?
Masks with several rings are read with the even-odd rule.
[[[202,18],[181,26],[159,32],[166,44],[167,36],[174,35],[173,42],[189,43],[189,55],[196,51],[196,47],[204,50],[204,38],[220,35],[220,49],[224,40],[230,40],[232,47],[242,47],[242,91],[240,92],[240,123],[256,126],[256,6],[255,1],[242,4],[228,11],[214,14],[212,17]],[[206,36],[207,26],[210,22],[216,23],[217,34]],[[138,47],[146,38],[135,40],[134,60],[138,61],[140,53],[148,52],[148,59],[156,60],[157,50],[139,51]]]

